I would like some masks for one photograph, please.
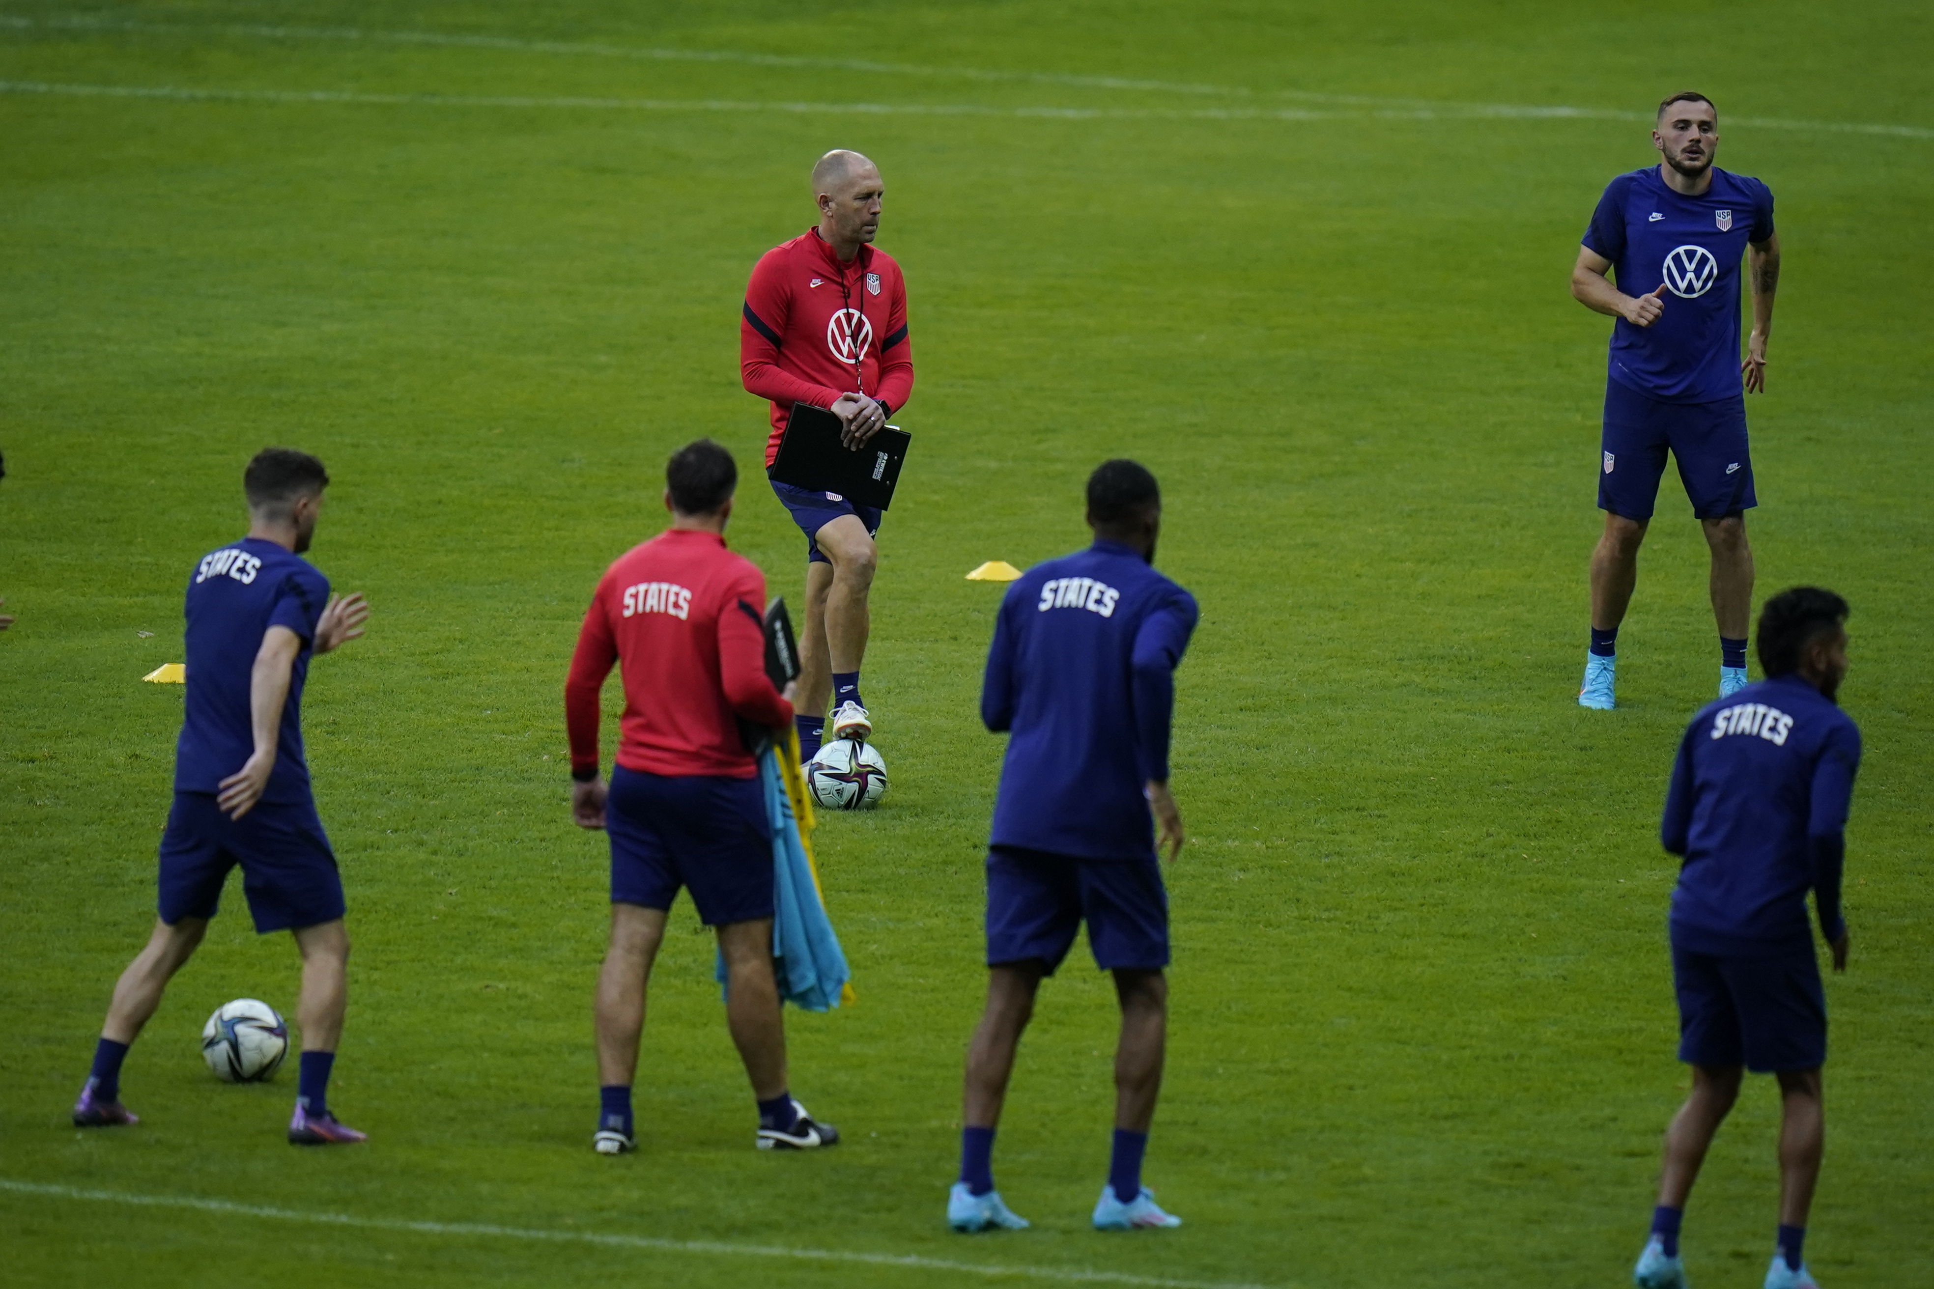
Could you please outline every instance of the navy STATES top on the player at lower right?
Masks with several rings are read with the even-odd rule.
[[[1671,937],[1692,953],[1758,955],[1847,930],[1839,875],[1861,730],[1801,676],[1748,684],[1708,703],[1673,763],[1659,827],[1683,854]]]

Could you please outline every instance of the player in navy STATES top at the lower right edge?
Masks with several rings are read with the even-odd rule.
[[[1801,1258],[1826,1119],[1826,993],[1806,926],[1812,891],[1833,970],[1847,970],[1839,885],[1861,730],[1835,703],[1847,601],[1802,586],[1766,601],[1766,678],[1708,703],[1679,742],[1661,837],[1673,891],[1679,1059],[1692,1096],[1665,1131],[1652,1237],[1632,1277],[1685,1289],[1679,1223],[1743,1069],[1779,1080],[1779,1233],[1766,1289],[1816,1289]]]

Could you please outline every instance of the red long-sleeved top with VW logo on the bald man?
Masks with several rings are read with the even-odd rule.
[[[795,402],[830,408],[839,394],[866,394],[892,415],[913,392],[907,282],[886,251],[859,247],[839,263],[808,228],[758,257],[739,319],[745,392],[772,400],[766,466]]]

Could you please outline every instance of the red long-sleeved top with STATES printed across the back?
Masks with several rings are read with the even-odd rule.
[[[766,578],[718,533],[673,528],[632,547],[592,595],[565,680],[571,769],[598,767],[598,692],[619,663],[617,763],[648,775],[758,773],[735,717],[783,727],[766,678]]]

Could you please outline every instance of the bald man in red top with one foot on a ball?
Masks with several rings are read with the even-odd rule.
[[[857,448],[913,392],[907,286],[894,257],[872,245],[882,193],[870,160],[845,149],[826,153],[812,166],[818,228],[766,251],[752,269],[739,321],[739,371],[748,394],[772,400],[768,470],[795,402],[830,408],[845,423],[847,446]],[[812,758],[828,702],[835,738],[872,734],[859,667],[880,512],[837,493],[777,481],[772,491],[806,535],[797,725],[801,756]]]

